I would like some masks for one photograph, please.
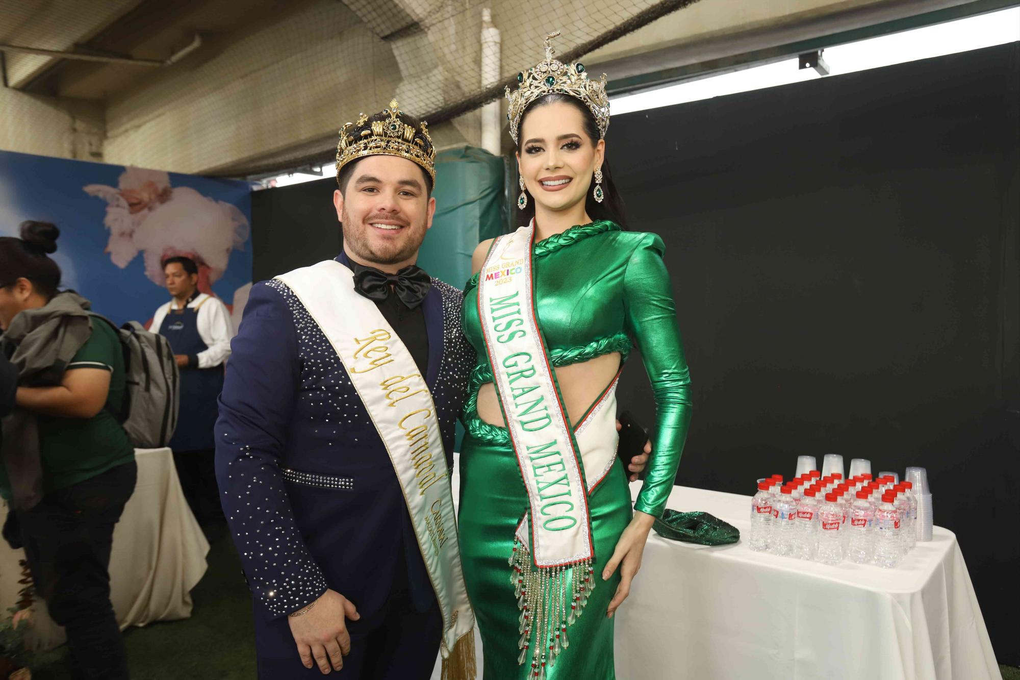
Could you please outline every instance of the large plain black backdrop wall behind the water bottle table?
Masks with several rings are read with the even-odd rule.
[[[618,115],[607,139],[630,228],[666,243],[694,394],[677,483],[751,494],[799,454],[927,468],[1012,664],[1018,45]],[[654,412],[640,362],[620,400]]]

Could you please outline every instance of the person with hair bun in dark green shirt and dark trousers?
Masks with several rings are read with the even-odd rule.
[[[67,632],[75,677],[128,678],[110,603],[113,528],[135,490],[135,449],[117,414],[126,391],[117,331],[58,292],[59,230],[27,222],[0,238],[0,350],[18,373],[3,422],[4,537],[23,545],[37,594]],[[12,526],[15,524],[16,526]]]

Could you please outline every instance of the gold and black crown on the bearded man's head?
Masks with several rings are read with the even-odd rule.
[[[352,160],[364,156],[400,156],[416,162],[436,183],[436,148],[428,135],[428,124],[409,125],[396,99],[390,108],[373,116],[358,114],[357,123],[347,123],[337,144],[337,174]]]

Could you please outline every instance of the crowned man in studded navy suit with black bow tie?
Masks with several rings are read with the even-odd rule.
[[[449,467],[474,352],[462,292],[414,265],[427,127],[396,101],[362,114],[337,168],[344,251],[252,288],[216,423],[259,677],[416,680],[438,651],[473,677]]]

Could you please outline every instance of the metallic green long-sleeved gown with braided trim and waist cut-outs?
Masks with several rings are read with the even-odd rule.
[[[631,338],[641,349],[658,425],[648,478],[634,507],[655,517],[665,509],[691,420],[690,377],[662,253],[658,236],[624,232],[601,221],[536,243],[532,256],[539,325],[554,367],[610,352],[625,359]],[[478,354],[464,406],[467,434],[460,455],[464,581],[481,633],[486,680],[533,680],[530,663],[518,664],[521,612],[507,566],[528,497],[507,430],[484,423],[476,410],[478,389],[493,380],[476,286],[477,275],[467,284],[463,306],[464,333]],[[606,618],[606,609],[619,584],[619,570],[609,581],[600,575],[631,516],[619,458],[592,491],[589,508],[598,587],[586,614],[566,629],[570,648],[545,670],[546,680],[615,678],[613,620]]]

